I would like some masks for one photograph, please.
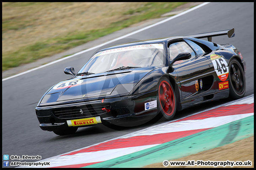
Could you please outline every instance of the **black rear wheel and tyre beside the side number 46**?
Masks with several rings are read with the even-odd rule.
[[[233,59],[229,62],[229,98],[238,99],[245,95],[245,75],[241,64]]]

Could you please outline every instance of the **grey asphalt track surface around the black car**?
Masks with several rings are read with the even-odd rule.
[[[253,2],[209,3],[185,15],[103,47],[136,40],[191,35],[231,28],[235,28],[234,38],[213,37],[213,42],[232,44],[241,52],[246,61],[245,96],[248,96],[254,94]],[[78,71],[97,50],[91,50],[33,72],[2,81],[2,155],[40,155],[42,159],[46,159],[151,126],[151,124],[145,124],[134,128],[113,130],[99,125],[79,128],[75,134],[67,136],[57,136],[53,132],[42,131],[39,128],[34,109],[42,95],[52,85],[71,78],[70,75],[63,73],[65,67],[73,66],[75,71]],[[178,112],[174,119],[225,102],[227,101],[211,102],[203,104],[203,106],[185,109]],[[26,162],[35,161],[26,160]]]

